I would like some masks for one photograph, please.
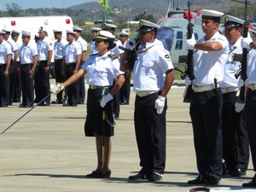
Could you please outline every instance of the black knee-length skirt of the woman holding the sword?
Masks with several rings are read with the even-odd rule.
[[[105,95],[109,90],[105,90]],[[84,124],[84,133],[86,137],[94,137],[94,133],[100,136],[112,137],[114,135],[113,127],[113,100],[108,102],[104,108],[101,107],[102,90],[88,90],[87,96],[87,115]],[[103,110],[107,119],[102,119]]]

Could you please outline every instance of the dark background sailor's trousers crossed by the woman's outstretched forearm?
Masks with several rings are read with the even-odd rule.
[[[76,63],[67,63],[66,66],[66,79],[73,75],[73,70],[76,67]],[[79,81],[69,85],[67,87],[67,104],[75,105],[79,104]]]

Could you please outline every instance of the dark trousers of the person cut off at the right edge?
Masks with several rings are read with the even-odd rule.
[[[256,90],[247,90],[245,119],[253,160],[253,171],[256,172]]]

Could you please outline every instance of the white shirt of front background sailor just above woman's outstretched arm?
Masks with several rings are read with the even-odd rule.
[[[77,61],[77,55],[81,55],[82,50],[79,43],[73,41],[73,44],[66,44],[65,46],[65,61],[66,63],[74,63]]]

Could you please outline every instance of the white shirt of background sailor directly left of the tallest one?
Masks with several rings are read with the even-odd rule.
[[[36,43],[33,43],[30,41],[27,45],[26,44],[21,45],[19,50],[21,65],[33,63],[34,61],[33,56],[35,55],[38,55],[38,48]]]

